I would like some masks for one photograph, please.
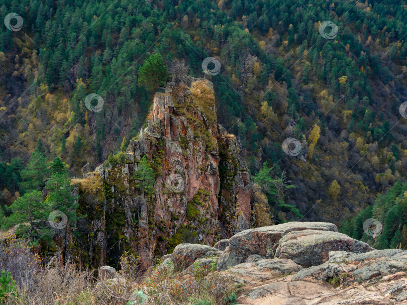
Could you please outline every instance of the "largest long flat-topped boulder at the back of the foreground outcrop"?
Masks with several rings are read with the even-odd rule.
[[[226,270],[227,267],[244,263],[252,254],[270,255],[270,251],[274,253],[280,239],[289,232],[310,229],[338,232],[334,224],[320,222],[289,222],[276,226],[245,230],[228,239],[228,242],[222,242],[222,244],[218,245],[218,247],[222,247],[229,243],[218,260],[218,270]]]

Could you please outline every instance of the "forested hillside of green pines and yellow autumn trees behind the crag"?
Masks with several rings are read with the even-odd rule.
[[[299,209],[281,206],[279,222],[339,224],[407,176],[401,1],[0,0],[2,18],[11,12],[24,24],[0,34],[3,207],[25,192],[35,148],[75,177],[127,146],[157,90],[138,83],[155,53],[214,83],[218,122],[254,176],[265,169],[296,186],[282,198],[266,191],[271,205]],[[202,71],[209,56],[219,74]],[[90,93],[103,98],[100,111],[84,104]],[[301,153],[284,153],[287,138]]]

